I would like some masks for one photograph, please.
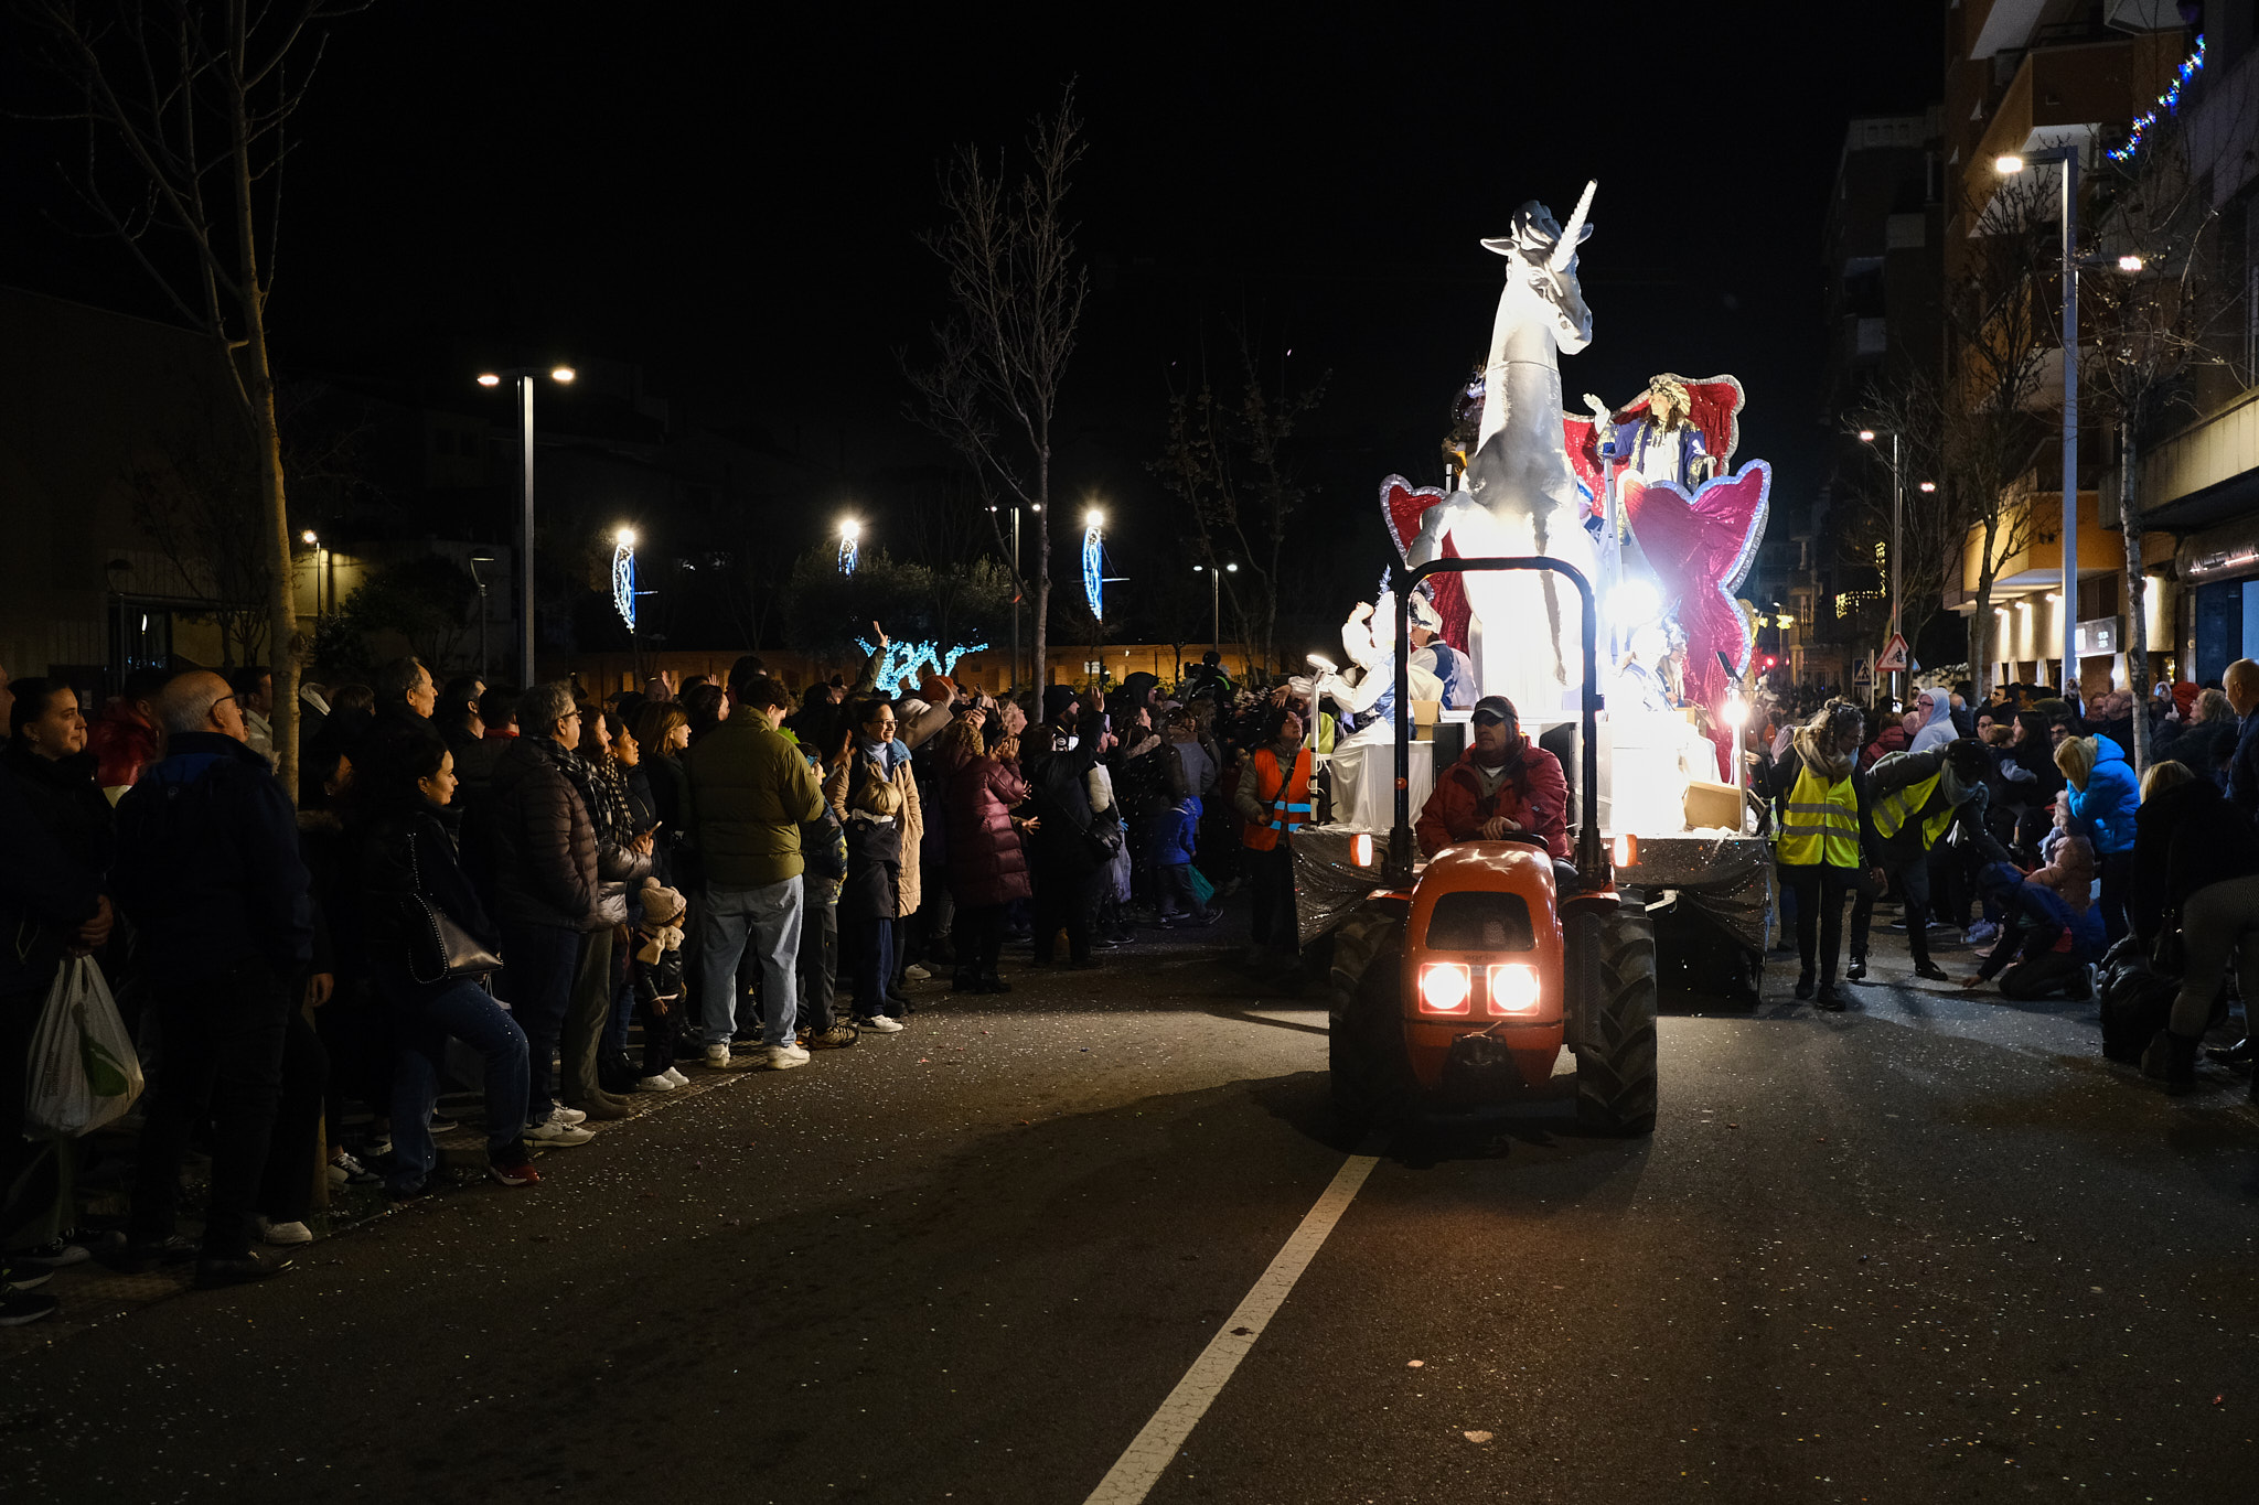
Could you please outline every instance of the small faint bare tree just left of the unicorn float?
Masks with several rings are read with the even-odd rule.
[[[1202,379],[1197,390],[1170,393],[1168,445],[1152,469],[1193,517],[1200,560],[1209,569],[1238,562],[1218,575],[1231,598],[1240,639],[1276,663],[1281,564],[1290,519],[1308,496],[1288,465],[1285,447],[1303,413],[1326,395],[1326,379],[1290,390],[1263,386],[1261,363],[1240,332],[1240,395],[1222,402]]]

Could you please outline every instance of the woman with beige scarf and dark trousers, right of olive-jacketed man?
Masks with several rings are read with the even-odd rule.
[[[924,833],[910,760],[895,756],[895,706],[861,702],[849,713],[854,745],[825,781],[825,799],[847,830],[847,880],[840,884],[840,957],[854,975],[856,1027],[901,1029],[906,1002],[895,979],[895,921],[904,914],[904,855],[917,862]],[[910,869],[915,873],[915,866]],[[915,907],[915,900],[913,900]]]

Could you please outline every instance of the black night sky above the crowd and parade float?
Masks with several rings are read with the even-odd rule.
[[[1565,217],[1588,176],[1597,334],[1565,361],[1570,402],[1735,372],[1739,458],[1771,458],[1794,503],[1823,458],[1843,124],[1938,93],[1940,14],[380,0],[339,25],[300,120],[273,320],[300,363],[445,379],[614,357],[705,422],[843,429],[858,454],[809,499],[820,519],[863,449],[919,442],[895,350],[940,311],[915,239],[935,165],[1019,142],[1073,77],[1098,291],[1062,487],[1114,503],[1130,573],[1177,533],[1145,476],[1168,384],[1233,325],[1272,361],[1292,350],[1297,384],[1331,372],[1310,528],[1371,548],[1351,575],[1376,573],[1376,485],[1437,478],[1450,388],[1489,338],[1500,262],[1477,239],[1523,199]],[[43,201],[36,129],[7,140],[0,185]],[[133,296],[99,246],[16,226],[0,278]],[[863,501],[883,526],[886,499]]]

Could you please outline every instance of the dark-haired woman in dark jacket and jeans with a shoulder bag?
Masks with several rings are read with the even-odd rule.
[[[483,977],[431,977],[436,959],[418,898],[483,945],[499,952],[501,936],[456,862],[454,754],[445,742],[418,740],[361,792],[368,830],[361,842],[368,963],[380,995],[393,1009],[398,1063],[393,1067],[393,1196],[425,1189],[438,1148],[431,1144],[431,1106],[438,1101],[447,1038],[486,1060],[488,1176],[504,1187],[540,1180],[526,1144],[526,1036],[492,1000]],[[587,1137],[581,1130],[581,1137]]]

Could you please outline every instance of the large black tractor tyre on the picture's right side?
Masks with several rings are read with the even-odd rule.
[[[1656,927],[1633,909],[1575,916],[1577,1117],[1615,1135],[1656,1130]]]

